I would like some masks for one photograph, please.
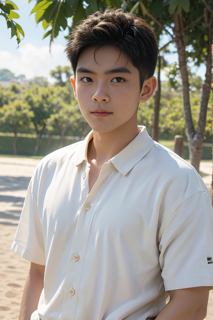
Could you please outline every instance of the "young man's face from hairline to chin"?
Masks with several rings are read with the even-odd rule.
[[[112,45],[101,47],[96,53],[95,47],[85,49],[79,59],[76,77],[71,77],[75,98],[83,117],[97,132],[113,131],[132,117],[137,124],[137,107],[140,101],[140,76],[130,60]],[[118,61],[117,61],[118,60]],[[117,61],[117,63],[116,63]],[[84,68],[90,70],[79,70]],[[106,73],[109,70],[126,68],[127,70]],[[148,100],[148,99],[147,99]],[[111,112],[105,117],[97,117],[92,112],[104,109]],[[132,122],[133,123],[133,122]]]

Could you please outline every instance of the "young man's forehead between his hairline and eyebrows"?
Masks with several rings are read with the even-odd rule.
[[[97,46],[92,46],[81,52],[77,66],[105,69],[109,68],[109,66],[113,67],[116,65],[116,67],[125,66],[134,68],[131,60],[124,54],[124,52],[120,52],[118,47],[113,45],[105,45],[100,47],[95,53],[96,48]]]

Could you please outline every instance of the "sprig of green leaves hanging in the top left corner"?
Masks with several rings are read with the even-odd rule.
[[[5,18],[7,22],[7,28],[11,28],[11,38],[13,38],[13,36],[16,36],[19,46],[19,43],[21,42],[21,40],[23,40],[21,39],[20,33],[24,38],[24,31],[21,26],[13,20],[20,18],[20,15],[17,12],[13,11],[19,10],[19,8],[12,1],[0,0],[0,9],[0,16],[3,16]]]

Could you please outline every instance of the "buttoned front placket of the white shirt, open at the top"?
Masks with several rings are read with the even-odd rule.
[[[107,178],[114,169],[111,161],[104,163],[99,172],[98,179],[89,193],[90,164],[84,161],[83,166],[85,169],[81,174],[81,203],[83,203],[79,212],[67,264],[61,320],[75,320],[78,288],[81,281],[81,272],[89,241],[90,228],[95,214],[95,207]],[[82,169],[79,168],[79,170]]]

